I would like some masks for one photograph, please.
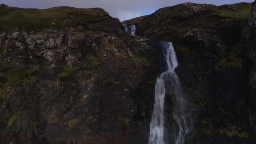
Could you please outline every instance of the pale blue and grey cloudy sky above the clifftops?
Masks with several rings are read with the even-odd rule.
[[[8,6],[20,8],[51,8],[71,6],[76,8],[104,8],[112,17],[120,21],[149,15],[159,8],[179,3],[208,3],[214,5],[253,2],[254,0],[0,0]]]

